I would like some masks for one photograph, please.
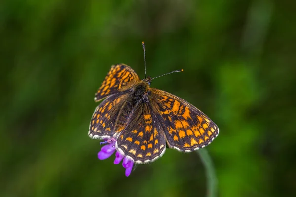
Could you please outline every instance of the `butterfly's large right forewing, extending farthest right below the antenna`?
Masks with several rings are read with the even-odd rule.
[[[168,92],[150,90],[149,101],[170,148],[192,152],[209,145],[217,137],[217,125],[199,109]]]

